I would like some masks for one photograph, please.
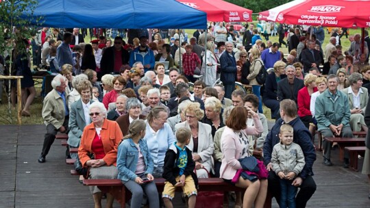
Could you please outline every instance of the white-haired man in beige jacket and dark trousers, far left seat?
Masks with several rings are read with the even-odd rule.
[[[56,139],[58,131],[66,133],[68,130],[69,108],[67,101],[69,94],[65,92],[67,85],[68,80],[66,77],[56,75],[53,81],[51,81],[53,90],[45,96],[42,118],[47,127],[47,133],[45,134],[41,155],[38,158],[39,163],[45,163],[45,157],[49,153],[51,144]]]

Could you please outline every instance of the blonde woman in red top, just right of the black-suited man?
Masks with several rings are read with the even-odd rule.
[[[312,122],[312,114],[310,111],[311,94],[317,92],[316,75],[307,74],[304,77],[304,88],[298,91],[297,103],[298,103],[298,116],[301,121],[309,129],[310,122]]]

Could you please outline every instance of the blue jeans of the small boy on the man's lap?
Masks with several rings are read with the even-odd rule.
[[[293,181],[280,179],[280,208],[295,208],[295,195],[297,195],[297,187],[292,185]]]

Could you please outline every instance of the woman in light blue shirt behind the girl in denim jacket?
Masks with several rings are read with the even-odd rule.
[[[144,139],[147,140],[151,157],[153,157],[154,177],[162,177],[164,156],[167,148],[175,142],[175,135],[166,121],[167,110],[162,106],[153,107],[147,116]]]

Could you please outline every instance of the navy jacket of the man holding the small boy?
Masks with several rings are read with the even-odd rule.
[[[280,127],[283,124],[284,120],[282,120],[282,118],[279,118],[276,121],[275,125],[273,125],[269,134],[267,134],[267,138],[263,146],[264,164],[266,165],[271,162],[273,146],[280,142],[279,133]],[[303,170],[298,175],[298,177],[306,179],[307,175],[313,175],[312,166],[314,164],[314,161],[316,160],[316,153],[311,142],[311,133],[304,126],[299,117],[291,120],[291,122],[288,122],[288,125],[291,125],[293,127],[293,142],[301,146],[301,149],[304,153],[304,161],[306,162]]]

